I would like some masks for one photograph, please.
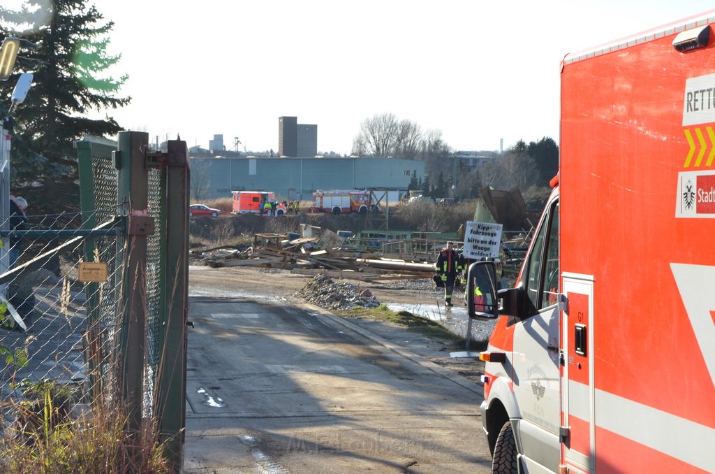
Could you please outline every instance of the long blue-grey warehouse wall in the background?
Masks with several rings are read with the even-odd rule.
[[[310,200],[317,189],[407,189],[413,172],[425,179],[425,163],[397,158],[190,158],[190,166],[192,200],[244,190]]]

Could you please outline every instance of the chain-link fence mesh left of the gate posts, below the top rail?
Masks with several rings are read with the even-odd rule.
[[[84,235],[82,227],[98,213],[26,216],[24,236],[4,238],[8,253],[19,251],[17,275],[0,289],[7,308],[1,317],[0,402],[21,400],[14,382],[51,379],[72,389],[77,402],[104,391],[117,344],[116,297],[122,281],[117,237]],[[0,223],[11,228],[10,223]],[[85,232],[86,233],[86,232]],[[94,284],[78,280],[85,261],[84,243],[94,242],[91,261],[107,263],[107,279]],[[38,258],[40,257],[40,258]],[[6,258],[0,258],[9,265]],[[3,269],[3,274],[7,268]],[[97,305],[89,332],[88,301]],[[10,359],[8,356],[11,356]]]

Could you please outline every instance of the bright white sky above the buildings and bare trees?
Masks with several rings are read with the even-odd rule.
[[[114,21],[109,111],[150,140],[277,150],[278,117],[350,153],[360,122],[393,113],[457,150],[558,141],[561,58],[713,8],[711,1],[97,0]],[[104,112],[103,112],[104,113]]]

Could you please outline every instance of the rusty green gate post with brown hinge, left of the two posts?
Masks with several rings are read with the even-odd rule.
[[[138,435],[142,425],[144,363],[147,354],[147,236],[153,233],[148,210],[148,173],[145,154],[149,134],[119,132],[115,155],[119,180],[117,203],[126,213],[126,254],[124,255],[124,301],[121,344],[119,345],[119,384],[127,402],[127,429]]]

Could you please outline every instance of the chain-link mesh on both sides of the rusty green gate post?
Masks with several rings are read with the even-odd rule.
[[[117,199],[117,168],[107,157],[92,157],[94,209],[80,213],[32,215],[24,222],[11,216],[0,222],[9,229],[2,240],[8,257],[0,257],[2,274],[13,270],[0,286],[0,301],[7,309],[0,329],[4,352],[0,402],[20,400],[16,383],[44,379],[75,389],[77,402],[107,395],[111,390],[115,357],[119,353],[124,289],[124,238],[117,216],[126,213]],[[149,173],[149,209],[160,219],[159,171]],[[31,209],[28,209],[28,211]],[[98,229],[104,225],[104,228]],[[161,226],[157,226],[160,229]],[[147,400],[144,412],[151,416],[152,390],[159,363],[159,266],[160,232],[149,237],[147,255],[147,367],[144,369]],[[9,255],[19,253],[9,267]],[[107,264],[107,279],[82,283],[80,263]],[[3,264],[4,263],[4,266]]]

